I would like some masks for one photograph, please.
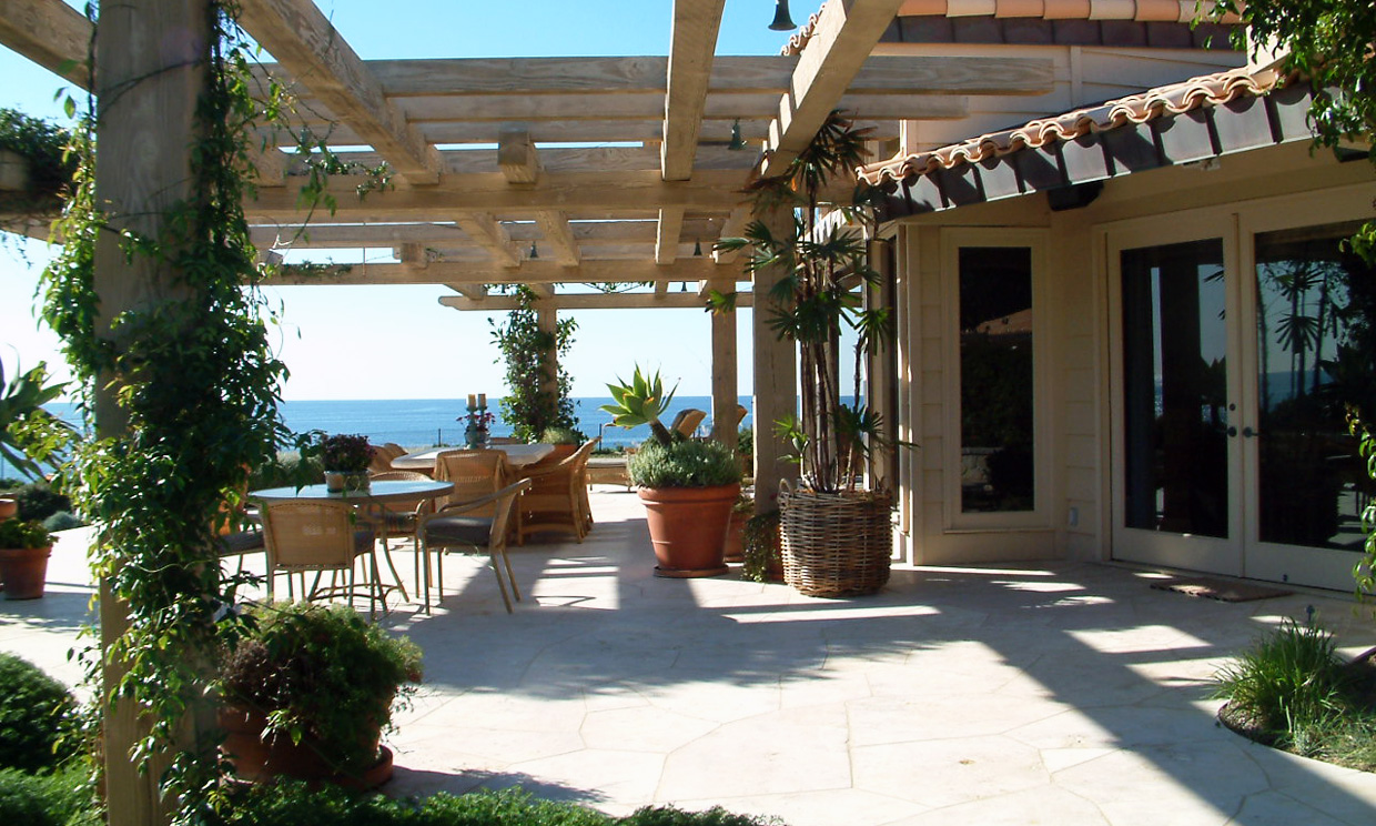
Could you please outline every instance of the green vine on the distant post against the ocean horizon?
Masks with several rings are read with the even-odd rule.
[[[578,322],[564,318],[553,333],[539,329],[535,315],[535,293],[524,285],[516,288],[517,308],[505,325],[493,325],[493,341],[506,359],[506,387],[502,398],[502,421],[512,425],[517,439],[537,442],[546,428],[578,425],[574,402],[570,398],[572,379],[563,366],[564,357],[574,346]],[[553,351],[559,359],[556,376],[549,374],[548,357]]]

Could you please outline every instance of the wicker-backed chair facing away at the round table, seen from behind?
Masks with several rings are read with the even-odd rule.
[[[370,526],[355,525],[354,505],[330,500],[279,500],[266,502],[263,538],[267,545],[267,599],[272,600],[275,574],[303,574],[301,599],[332,599],[344,596],[369,597],[369,615],[377,613],[377,603],[387,607],[381,575],[377,569],[374,534]],[[365,523],[366,525],[366,523]],[[359,591],[356,562],[367,556],[363,591]],[[321,574],[330,571],[330,584],[321,585]],[[304,589],[304,574],[315,573],[311,588]],[[347,582],[340,584],[345,577]]]

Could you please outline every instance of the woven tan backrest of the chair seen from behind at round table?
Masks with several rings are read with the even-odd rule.
[[[270,570],[318,571],[354,567],[358,555],[354,505],[330,500],[282,500],[263,507]]]

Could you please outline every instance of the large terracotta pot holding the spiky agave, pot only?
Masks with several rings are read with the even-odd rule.
[[[717,577],[725,574],[722,549],[731,507],[740,485],[714,487],[641,487],[656,577]]]

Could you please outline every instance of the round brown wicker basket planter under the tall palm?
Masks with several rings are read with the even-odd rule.
[[[860,596],[889,581],[886,493],[780,490],[783,580],[805,596]]]

